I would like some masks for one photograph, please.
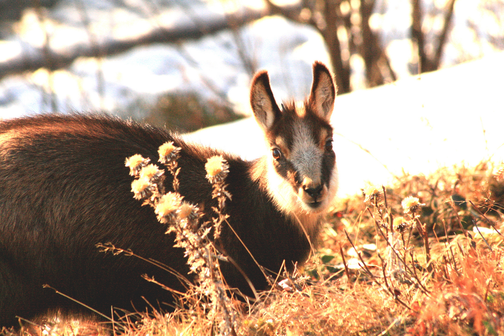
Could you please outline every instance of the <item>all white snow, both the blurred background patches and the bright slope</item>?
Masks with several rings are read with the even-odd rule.
[[[119,8],[112,0],[86,0],[82,11],[74,1],[61,0],[43,20],[28,10],[14,27],[18,35],[0,41],[0,58],[29,54],[47,37],[52,47],[65,49],[92,39],[136,36],[159,25],[218,16],[240,6],[264,6],[261,0],[184,0],[170,3],[172,7],[167,3],[158,1],[156,7],[144,0],[128,0],[124,4],[130,7]],[[436,0],[435,7],[443,8],[444,3]],[[343,5],[351,10],[348,2]],[[485,158],[504,160],[504,54],[496,51],[498,44],[489,43],[490,39],[504,41],[498,6],[496,0],[456,2],[442,65],[484,56],[481,60],[410,77],[416,57],[409,40],[410,3],[376,2],[372,26],[380,30],[400,80],[337,97],[332,122],[341,196],[358,192],[366,183],[387,183],[403,169],[418,174],[461,162],[476,164]],[[433,5],[425,9],[435,10]],[[425,20],[424,29],[438,23],[439,14],[434,13]],[[353,88],[361,88],[362,58],[348,56]],[[52,111],[53,105],[59,112],[95,110],[142,118],[160,95],[173,91],[198,92],[209,100],[224,97],[236,111],[249,115],[252,74],[245,60],[269,71],[277,101],[302,99],[311,85],[312,62],[329,64],[321,35],[313,27],[265,17],[235,32],[222,31],[197,41],[140,46],[102,60],[79,58],[68,69],[52,73],[39,69],[6,77],[0,81],[0,118]],[[252,118],[202,129],[187,138],[248,159],[266,151]]]

